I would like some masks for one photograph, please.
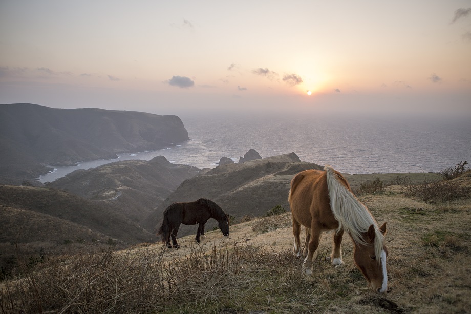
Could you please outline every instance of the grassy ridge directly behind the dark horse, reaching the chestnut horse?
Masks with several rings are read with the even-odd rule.
[[[152,212],[141,225],[153,232],[160,226],[163,211],[174,202],[209,198],[223,210],[240,219],[245,215],[259,217],[272,207],[282,205],[289,210],[288,191],[292,177],[305,169],[323,169],[301,162],[295,153],[246,161],[242,164],[225,164],[185,180]],[[215,221],[208,221],[207,229]],[[180,228],[179,235],[195,232],[195,226]]]

